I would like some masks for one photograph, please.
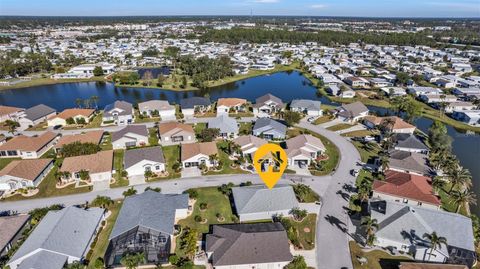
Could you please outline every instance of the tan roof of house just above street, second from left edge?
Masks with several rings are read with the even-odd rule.
[[[109,172],[113,169],[113,150],[96,154],[68,157],[63,160],[61,172],[75,173],[86,170],[90,174]]]

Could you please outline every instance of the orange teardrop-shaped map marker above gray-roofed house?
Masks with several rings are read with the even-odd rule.
[[[253,166],[265,185],[272,189],[287,168],[287,153],[277,144],[265,144],[255,152]]]

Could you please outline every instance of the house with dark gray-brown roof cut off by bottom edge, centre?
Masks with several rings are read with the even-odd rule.
[[[284,268],[293,260],[282,224],[213,225],[205,252],[215,269]]]

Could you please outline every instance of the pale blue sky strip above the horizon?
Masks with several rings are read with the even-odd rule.
[[[0,0],[0,15],[475,17],[480,0]]]

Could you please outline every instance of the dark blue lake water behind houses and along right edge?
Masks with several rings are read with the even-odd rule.
[[[182,98],[206,95],[209,95],[212,100],[220,97],[239,97],[253,102],[257,97],[266,93],[278,96],[284,102],[290,102],[292,99],[313,99],[320,100],[324,104],[333,104],[328,98],[319,95],[310,81],[299,72],[276,73],[229,83],[209,90],[185,92],[119,88],[111,83],[95,82],[46,85],[0,91],[0,104],[28,108],[43,103],[62,111],[65,108],[75,107],[77,98],[87,99],[93,95],[99,97],[98,105],[103,108],[115,100],[138,103],[161,99],[178,104]],[[387,112],[381,108],[372,107],[371,109],[380,113]],[[420,118],[416,122],[417,127],[424,132],[431,124],[432,121],[426,118]],[[453,138],[453,151],[461,164],[472,173],[473,190],[480,197],[480,135],[464,134],[450,126],[448,126],[448,133]],[[472,208],[472,212],[480,215],[480,207]]]

